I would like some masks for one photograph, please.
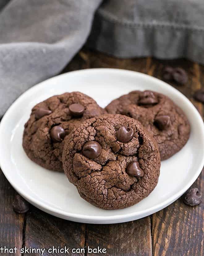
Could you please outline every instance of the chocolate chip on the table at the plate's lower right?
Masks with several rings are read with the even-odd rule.
[[[190,206],[196,206],[201,203],[202,195],[197,187],[190,188],[183,196],[185,204]]]

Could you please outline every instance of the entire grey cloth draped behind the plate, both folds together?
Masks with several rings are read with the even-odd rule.
[[[0,1],[0,118],[25,90],[58,74],[86,41],[118,57],[186,57],[204,64],[203,0],[101,3]]]

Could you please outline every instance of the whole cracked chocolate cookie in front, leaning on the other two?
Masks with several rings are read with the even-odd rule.
[[[155,188],[160,169],[157,143],[137,120],[124,115],[102,115],[75,128],[62,162],[80,196],[103,209],[141,201]]]

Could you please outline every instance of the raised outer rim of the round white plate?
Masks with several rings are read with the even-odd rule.
[[[144,74],[141,72],[137,72],[137,71],[132,71],[132,70],[124,70],[124,69],[115,69],[115,68],[93,68],[93,69],[83,69],[83,70],[74,70],[74,71],[70,71],[64,74],[60,74],[60,75],[56,75],[52,78],[46,79],[34,86],[32,86],[31,88],[29,88],[27,91],[23,92],[23,94],[21,94],[13,103],[12,105],[8,108],[8,110],[6,111],[6,113],[3,115],[2,120],[0,122],[0,154],[2,152],[2,130],[4,128],[4,123],[6,123],[7,118],[9,117],[10,113],[15,109],[15,106],[19,104],[20,101],[23,100],[23,98],[29,97],[30,94],[32,94],[33,91],[38,90],[38,88],[40,88],[40,86],[42,86],[44,83],[46,83],[48,80],[55,80],[58,79],[58,77],[62,77],[62,76],[67,76],[68,74],[73,74],[73,73],[86,73],[86,72],[122,72],[122,73],[131,73],[131,74],[137,74],[141,77],[144,77],[146,79],[153,79],[156,82],[159,82],[160,84],[163,83],[163,85],[165,87],[167,87],[169,90],[171,90],[173,93],[179,94],[182,99],[189,105],[190,108],[193,109],[194,114],[196,115],[196,119],[198,119],[201,127],[202,127],[202,137],[204,138],[204,123],[202,120],[201,115],[199,114],[198,110],[195,108],[195,106],[192,104],[191,101],[189,101],[189,99],[187,97],[185,97],[184,94],[182,94],[180,91],[178,91],[176,88],[172,87],[171,85],[169,85],[168,83],[165,83],[164,81],[157,79],[155,77],[152,77],[148,74]],[[91,215],[82,215],[82,214],[78,214],[78,213],[69,213],[60,209],[56,209],[54,207],[51,207],[43,202],[41,202],[40,200],[37,200],[35,198],[33,198],[30,195],[26,195],[26,193],[23,191],[23,189],[19,188],[19,186],[17,186],[15,184],[15,182],[10,179],[8,173],[6,172],[6,166],[4,164],[4,162],[6,162],[5,160],[3,160],[3,158],[0,158],[0,167],[2,169],[2,172],[4,173],[6,179],[9,181],[9,183],[11,184],[11,186],[20,194],[23,196],[23,198],[25,198],[26,200],[28,200],[31,204],[34,204],[37,208],[52,214],[54,216],[57,216],[59,218],[65,218],[65,219],[70,219],[70,220],[74,220],[77,222],[87,222],[87,223],[119,223],[120,219],[122,219],[121,222],[125,222],[125,221],[130,221],[130,220],[134,220],[134,219],[138,219],[137,217],[134,218],[135,214],[137,213],[137,215],[150,215],[152,213],[155,213],[161,209],[164,209],[165,207],[167,207],[169,204],[171,204],[172,202],[174,202],[175,200],[177,200],[181,195],[183,195],[185,193],[185,191],[193,184],[193,182],[195,182],[195,180],[198,178],[199,174],[202,171],[203,165],[204,165],[204,155],[202,157],[202,161],[199,164],[199,167],[197,169],[197,171],[194,173],[193,177],[190,179],[189,182],[186,183],[186,185],[179,190],[177,193],[175,193],[174,195],[172,195],[171,197],[169,197],[168,199],[166,199],[165,201],[161,202],[160,204],[156,204],[155,206],[152,206],[151,208],[147,208],[145,210],[141,210],[141,211],[137,211],[137,212],[133,212],[133,213],[126,213],[126,214],[122,214],[122,215],[112,215],[112,216],[91,216]],[[151,212],[149,214],[149,212]],[[59,216],[60,215],[60,216]],[[141,217],[143,218],[143,217]],[[114,220],[116,222],[114,222]],[[99,223],[100,222],[100,223]]]

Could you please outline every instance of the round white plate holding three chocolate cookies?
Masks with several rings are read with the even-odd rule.
[[[80,91],[100,106],[132,90],[151,89],[168,95],[187,115],[190,138],[182,150],[161,164],[155,190],[138,204],[120,210],[102,210],[83,200],[62,173],[33,163],[23,151],[23,125],[32,107],[63,92]],[[87,223],[118,223],[155,213],[180,197],[196,180],[204,164],[204,125],[198,111],[179,91],[138,72],[90,69],[62,74],[23,93],[0,123],[0,165],[8,181],[26,200],[57,217]]]

